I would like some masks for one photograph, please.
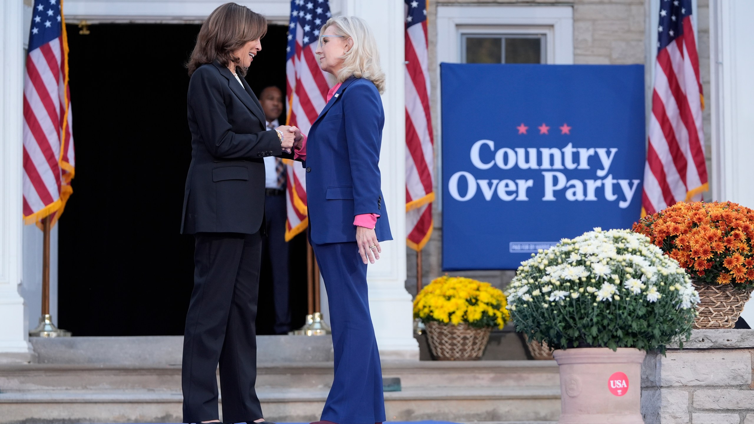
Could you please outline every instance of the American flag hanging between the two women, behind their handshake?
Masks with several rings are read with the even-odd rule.
[[[320,28],[331,17],[326,0],[290,2],[290,24],[286,56],[287,124],[308,134],[311,124],[327,103],[329,83],[314,51]],[[285,239],[289,241],[306,229],[306,174],[304,169],[287,161],[287,223]]]

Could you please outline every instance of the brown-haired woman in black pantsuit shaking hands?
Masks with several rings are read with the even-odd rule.
[[[286,156],[296,128],[265,131],[242,78],[262,50],[264,17],[227,3],[201,26],[188,63],[192,161],[181,232],[193,234],[194,290],[183,342],[183,422],[263,422],[256,381],[256,303],[265,156]]]

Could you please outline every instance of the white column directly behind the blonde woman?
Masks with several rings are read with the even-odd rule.
[[[382,243],[381,259],[369,265],[369,308],[382,358],[418,359],[413,337],[412,299],[406,291],[406,104],[403,98],[404,3],[401,0],[342,0],[335,14],[361,17],[379,45],[387,88],[382,95],[382,194],[393,241]]]

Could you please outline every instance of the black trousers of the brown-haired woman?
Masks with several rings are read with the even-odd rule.
[[[183,422],[218,419],[220,367],[222,419],[262,418],[256,397],[256,304],[262,237],[198,233],[194,290],[183,340]]]

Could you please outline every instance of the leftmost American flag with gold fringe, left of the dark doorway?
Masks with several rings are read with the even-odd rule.
[[[35,0],[23,84],[23,218],[57,220],[73,192],[68,41],[62,0]]]

